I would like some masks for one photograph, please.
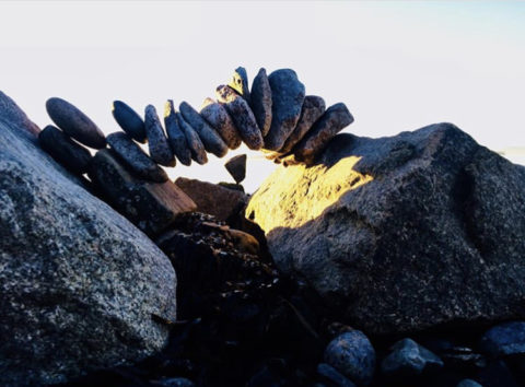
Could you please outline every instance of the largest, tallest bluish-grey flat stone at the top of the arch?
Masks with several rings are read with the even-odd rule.
[[[271,126],[265,137],[265,148],[278,151],[295,129],[304,101],[304,84],[295,71],[273,71],[268,81],[271,87]]]

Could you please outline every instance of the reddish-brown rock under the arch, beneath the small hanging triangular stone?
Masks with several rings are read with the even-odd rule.
[[[248,201],[244,192],[217,184],[179,177],[175,185],[195,201],[197,211],[213,215],[219,221],[240,212]]]

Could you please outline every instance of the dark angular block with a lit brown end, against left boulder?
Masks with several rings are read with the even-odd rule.
[[[172,224],[177,215],[194,211],[194,201],[172,181],[148,183],[135,178],[109,150],[98,151],[89,176],[103,197],[148,235]]]

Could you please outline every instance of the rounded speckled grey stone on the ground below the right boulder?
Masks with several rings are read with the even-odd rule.
[[[372,382],[375,351],[369,338],[359,330],[335,338],[325,350],[325,362],[360,386]]]

